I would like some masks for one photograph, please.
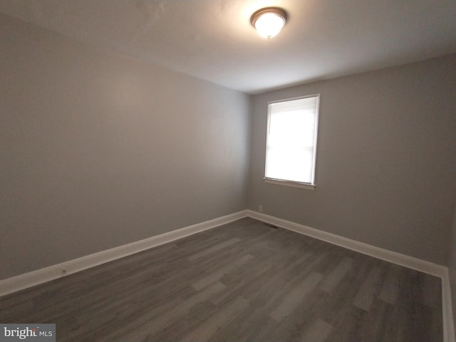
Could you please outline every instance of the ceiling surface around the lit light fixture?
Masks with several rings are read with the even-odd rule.
[[[266,40],[249,18],[280,6]],[[456,52],[455,0],[0,0],[0,12],[246,93]]]

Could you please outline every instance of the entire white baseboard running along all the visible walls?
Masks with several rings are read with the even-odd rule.
[[[26,274],[20,274],[19,276],[13,276],[8,279],[0,281],[0,296],[11,294],[16,291],[27,289],[28,287],[35,286],[38,284],[45,283],[54,279],[61,278],[64,275],[73,274],[84,269],[89,269],[93,266],[105,264],[106,262],[113,261],[127,257],[130,254],[142,252],[152,247],[157,247],[160,244],[166,244],[168,242],[182,239],[182,237],[188,237],[192,234],[202,232],[207,229],[218,227],[222,224],[242,219],[243,217],[252,217],[259,221],[272,224],[276,227],[289,229],[293,232],[314,237],[316,239],[336,244],[338,246],[351,249],[355,252],[367,254],[377,259],[389,261],[393,264],[405,266],[410,269],[415,269],[432,276],[438,276],[442,279],[442,314],[443,314],[443,334],[444,342],[456,342],[455,341],[455,330],[452,316],[452,301],[451,301],[451,289],[450,289],[450,277],[448,269],[445,266],[433,264],[429,261],[424,261],[414,257],[409,257],[405,254],[397,252],[391,252],[387,249],[358,242],[346,237],[340,237],[336,234],[323,232],[322,230],[304,226],[295,222],[287,221],[285,219],[279,219],[270,215],[266,215],[260,212],[254,212],[253,210],[243,210],[227,216],[218,217],[217,219],[211,219],[206,222],[193,224],[192,226],[184,227],[181,229],[173,230],[164,234],[156,235],[137,242],[130,244],[124,244],[123,246],[115,247],[113,249],[107,249],[102,252],[90,254],[85,257],[73,259],[70,261],[63,262],[52,266],[31,271]]]

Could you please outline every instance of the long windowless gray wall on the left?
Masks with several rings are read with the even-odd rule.
[[[0,16],[0,279],[247,207],[249,95]]]

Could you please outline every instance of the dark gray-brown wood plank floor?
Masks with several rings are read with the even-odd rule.
[[[442,341],[440,279],[254,219],[0,298],[57,341]]]

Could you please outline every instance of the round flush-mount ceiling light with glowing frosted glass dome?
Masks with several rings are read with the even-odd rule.
[[[250,23],[257,28],[260,36],[270,39],[285,26],[287,17],[286,11],[279,7],[266,7],[252,14]]]

